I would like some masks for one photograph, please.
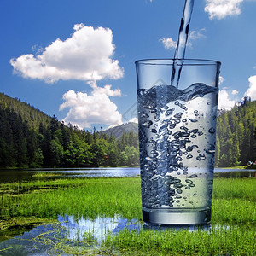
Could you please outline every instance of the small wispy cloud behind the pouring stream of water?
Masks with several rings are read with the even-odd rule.
[[[190,31],[187,46],[192,47],[192,41],[200,38],[206,38],[206,36],[202,34],[205,30],[205,28],[202,28],[199,31]],[[160,38],[159,41],[164,44],[165,49],[176,49],[177,47],[177,41],[174,41],[172,38]]]

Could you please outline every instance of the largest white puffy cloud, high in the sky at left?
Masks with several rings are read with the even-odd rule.
[[[57,38],[38,55],[20,55],[11,59],[14,73],[27,79],[42,79],[53,84],[59,79],[119,79],[124,70],[113,60],[115,45],[109,28],[75,24],[65,41]]]

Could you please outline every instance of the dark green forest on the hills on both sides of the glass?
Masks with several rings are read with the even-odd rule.
[[[216,166],[256,160],[256,102],[218,116]],[[0,167],[138,166],[137,132],[119,138],[64,125],[0,93]]]

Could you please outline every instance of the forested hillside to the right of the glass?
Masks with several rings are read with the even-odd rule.
[[[256,160],[256,101],[218,116],[215,166],[247,165]]]

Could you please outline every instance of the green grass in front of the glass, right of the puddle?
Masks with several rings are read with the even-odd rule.
[[[253,255],[255,230],[244,227],[212,227],[211,230],[122,230],[109,234],[105,247],[122,255]],[[135,253],[136,252],[136,253]]]

